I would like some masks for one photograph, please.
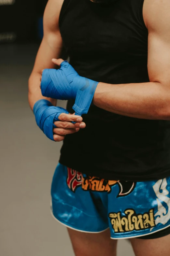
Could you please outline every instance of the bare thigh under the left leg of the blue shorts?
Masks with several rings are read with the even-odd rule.
[[[76,256],[116,256],[117,240],[110,239],[110,230],[84,233],[68,229]]]

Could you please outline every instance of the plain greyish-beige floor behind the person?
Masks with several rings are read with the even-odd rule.
[[[0,255],[73,256],[65,227],[50,214],[51,179],[62,144],[39,130],[27,100],[37,47],[0,46]],[[134,253],[121,240],[118,256],[124,255]]]

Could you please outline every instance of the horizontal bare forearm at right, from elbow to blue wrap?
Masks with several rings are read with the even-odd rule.
[[[93,103],[120,115],[170,120],[170,92],[158,82],[118,85],[99,83]]]

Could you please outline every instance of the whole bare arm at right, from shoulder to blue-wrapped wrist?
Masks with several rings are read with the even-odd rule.
[[[148,83],[99,83],[93,103],[107,111],[144,119],[170,120],[170,2],[145,0]]]

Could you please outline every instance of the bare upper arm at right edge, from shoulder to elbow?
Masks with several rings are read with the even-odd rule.
[[[145,0],[148,26],[148,73],[151,82],[170,87],[170,16],[168,0]],[[168,6],[163,6],[163,2]],[[149,6],[150,4],[150,6]]]

